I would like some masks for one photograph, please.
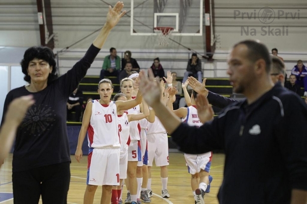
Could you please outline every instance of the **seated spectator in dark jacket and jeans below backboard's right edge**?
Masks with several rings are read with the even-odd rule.
[[[186,82],[189,75],[197,77],[199,82],[203,81],[202,61],[198,58],[196,53],[192,54],[192,58],[188,61],[187,71],[185,72],[183,83]]]

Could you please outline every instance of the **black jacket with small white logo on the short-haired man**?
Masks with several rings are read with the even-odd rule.
[[[221,204],[288,204],[293,188],[307,190],[306,124],[307,105],[276,84],[252,104],[232,103],[199,128],[182,123],[172,137],[186,153],[225,150]]]

